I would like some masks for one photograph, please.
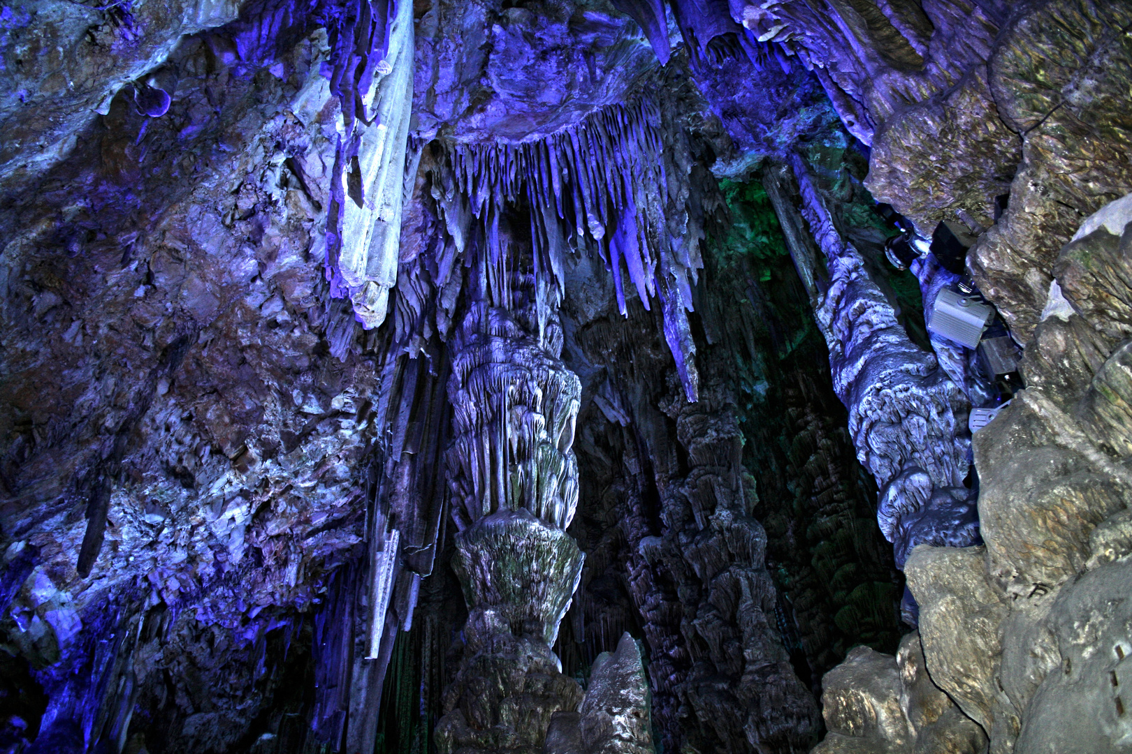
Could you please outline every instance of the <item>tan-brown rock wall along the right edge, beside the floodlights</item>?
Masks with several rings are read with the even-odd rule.
[[[1132,216],[1122,200],[1082,223],[1130,188],[1109,151],[1127,137],[1124,12],[1036,2],[1003,15],[985,69],[891,116],[873,142],[868,185],[920,232],[951,214],[979,236],[969,270],[1026,344],[1027,388],[974,436],[985,546],[920,545],[906,565],[931,681],[995,753],[1116,751],[1126,735],[1126,652],[1110,632],[1129,552]],[[974,400],[962,358],[949,372]],[[891,733],[904,730],[885,703],[891,666],[859,652],[826,679],[823,747],[910,746]]]

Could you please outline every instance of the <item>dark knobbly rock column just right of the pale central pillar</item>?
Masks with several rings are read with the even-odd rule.
[[[600,332],[599,323],[592,336]],[[586,340],[588,348],[598,345]],[[632,346],[606,347],[629,353]],[[646,367],[648,355],[638,348],[633,362]],[[683,737],[696,748],[806,745],[816,710],[775,626],[774,587],[763,566],[765,534],[749,515],[753,496],[739,466],[734,404],[723,402],[729,391],[717,384],[702,384],[700,400],[687,404],[672,376],[660,397],[675,419],[678,447],[658,431],[664,423],[653,406],[617,398],[626,416],[649,417],[645,442],[655,443],[646,450],[634,442],[626,460],[649,470],[640,484],[660,495],[660,520],[637,499],[621,530],[632,548],[628,591],[651,649],[658,721],[670,740]],[[677,466],[676,452],[687,453],[687,470]]]

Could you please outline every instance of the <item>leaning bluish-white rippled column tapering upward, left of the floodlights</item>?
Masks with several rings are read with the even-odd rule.
[[[800,158],[794,172],[803,216],[829,267],[816,318],[833,389],[849,409],[857,458],[881,488],[877,520],[897,565],[918,544],[977,544],[975,499],[963,486],[970,439],[955,419],[969,408],[967,398],[935,355],[908,338]]]

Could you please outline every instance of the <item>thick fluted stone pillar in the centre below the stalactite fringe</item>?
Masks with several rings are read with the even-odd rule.
[[[470,305],[453,341],[453,569],[469,618],[436,729],[445,754],[541,754],[550,717],[582,700],[550,650],[584,560],[565,531],[581,383],[558,357],[556,293],[513,276]]]

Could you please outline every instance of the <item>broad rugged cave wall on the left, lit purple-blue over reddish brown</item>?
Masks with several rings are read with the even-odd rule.
[[[309,252],[334,114],[294,104],[325,46],[306,23],[266,6],[186,38],[165,114],[120,93],[5,206],[6,643],[44,736],[238,739],[366,534],[378,370],[329,354]]]

